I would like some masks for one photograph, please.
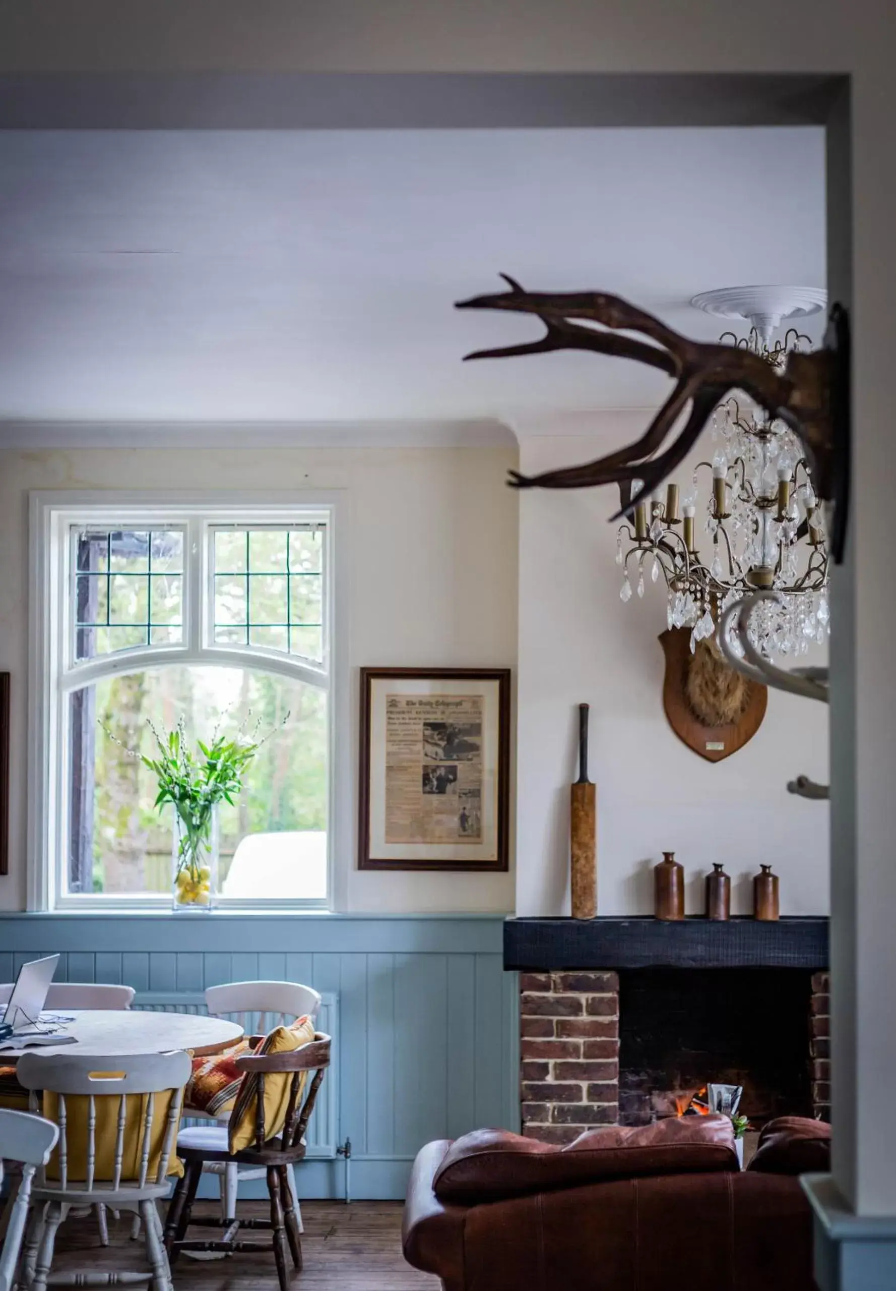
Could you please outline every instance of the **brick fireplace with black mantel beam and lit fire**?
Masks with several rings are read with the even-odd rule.
[[[569,1143],[743,1084],[754,1126],[829,1112],[826,919],[509,919],[523,1133]]]

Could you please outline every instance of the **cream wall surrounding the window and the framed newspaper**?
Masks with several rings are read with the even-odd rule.
[[[31,489],[344,491],[351,701],[338,749],[336,901],[358,911],[505,911],[513,874],[355,868],[357,670],[362,665],[514,666],[516,449],[44,449],[0,452],[0,669],[12,673],[10,875],[0,909],[24,908],[27,536]],[[347,755],[346,755],[347,754]]]

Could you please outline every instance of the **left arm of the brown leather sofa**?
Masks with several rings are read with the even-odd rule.
[[[436,1273],[446,1291],[463,1286],[465,1208],[436,1197],[433,1177],[451,1146],[447,1139],[428,1143],[416,1154],[401,1223],[405,1259],[415,1269]]]

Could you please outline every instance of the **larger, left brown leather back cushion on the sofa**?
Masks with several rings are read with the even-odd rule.
[[[502,1130],[476,1130],[449,1148],[433,1190],[442,1202],[471,1206],[602,1179],[739,1168],[731,1122],[722,1115],[590,1130],[565,1148]]]

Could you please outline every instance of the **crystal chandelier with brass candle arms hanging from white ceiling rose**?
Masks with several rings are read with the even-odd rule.
[[[704,292],[691,301],[721,318],[750,323],[749,336],[722,341],[746,347],[772,367],[808,343],[785,319],[813,314],[825,293],[812,288],[744,287]],[[682,492],[634,506],[618,533],[616,564],[624,569],[623,602],[645,594],[645,573],[663,577],[669,627],[691,629],[691,649],[716,635],[722,616],[752,591],[774,591],[750,616],[750,643],[766,657],[798,656],[824,643],[828,603],[828,540],[811,467],[785,422],[767,417],[746,398],[719,404],[712,422],[712,461],[695,467]],[[703,515],[700,487],[706,485]],[[637,492],[634,482],[633,491]],[[630,496],[630,494],[629,494]],[[634,584],[634,587],[633,587]],[[735,652],[739,642],[730,639]]]

